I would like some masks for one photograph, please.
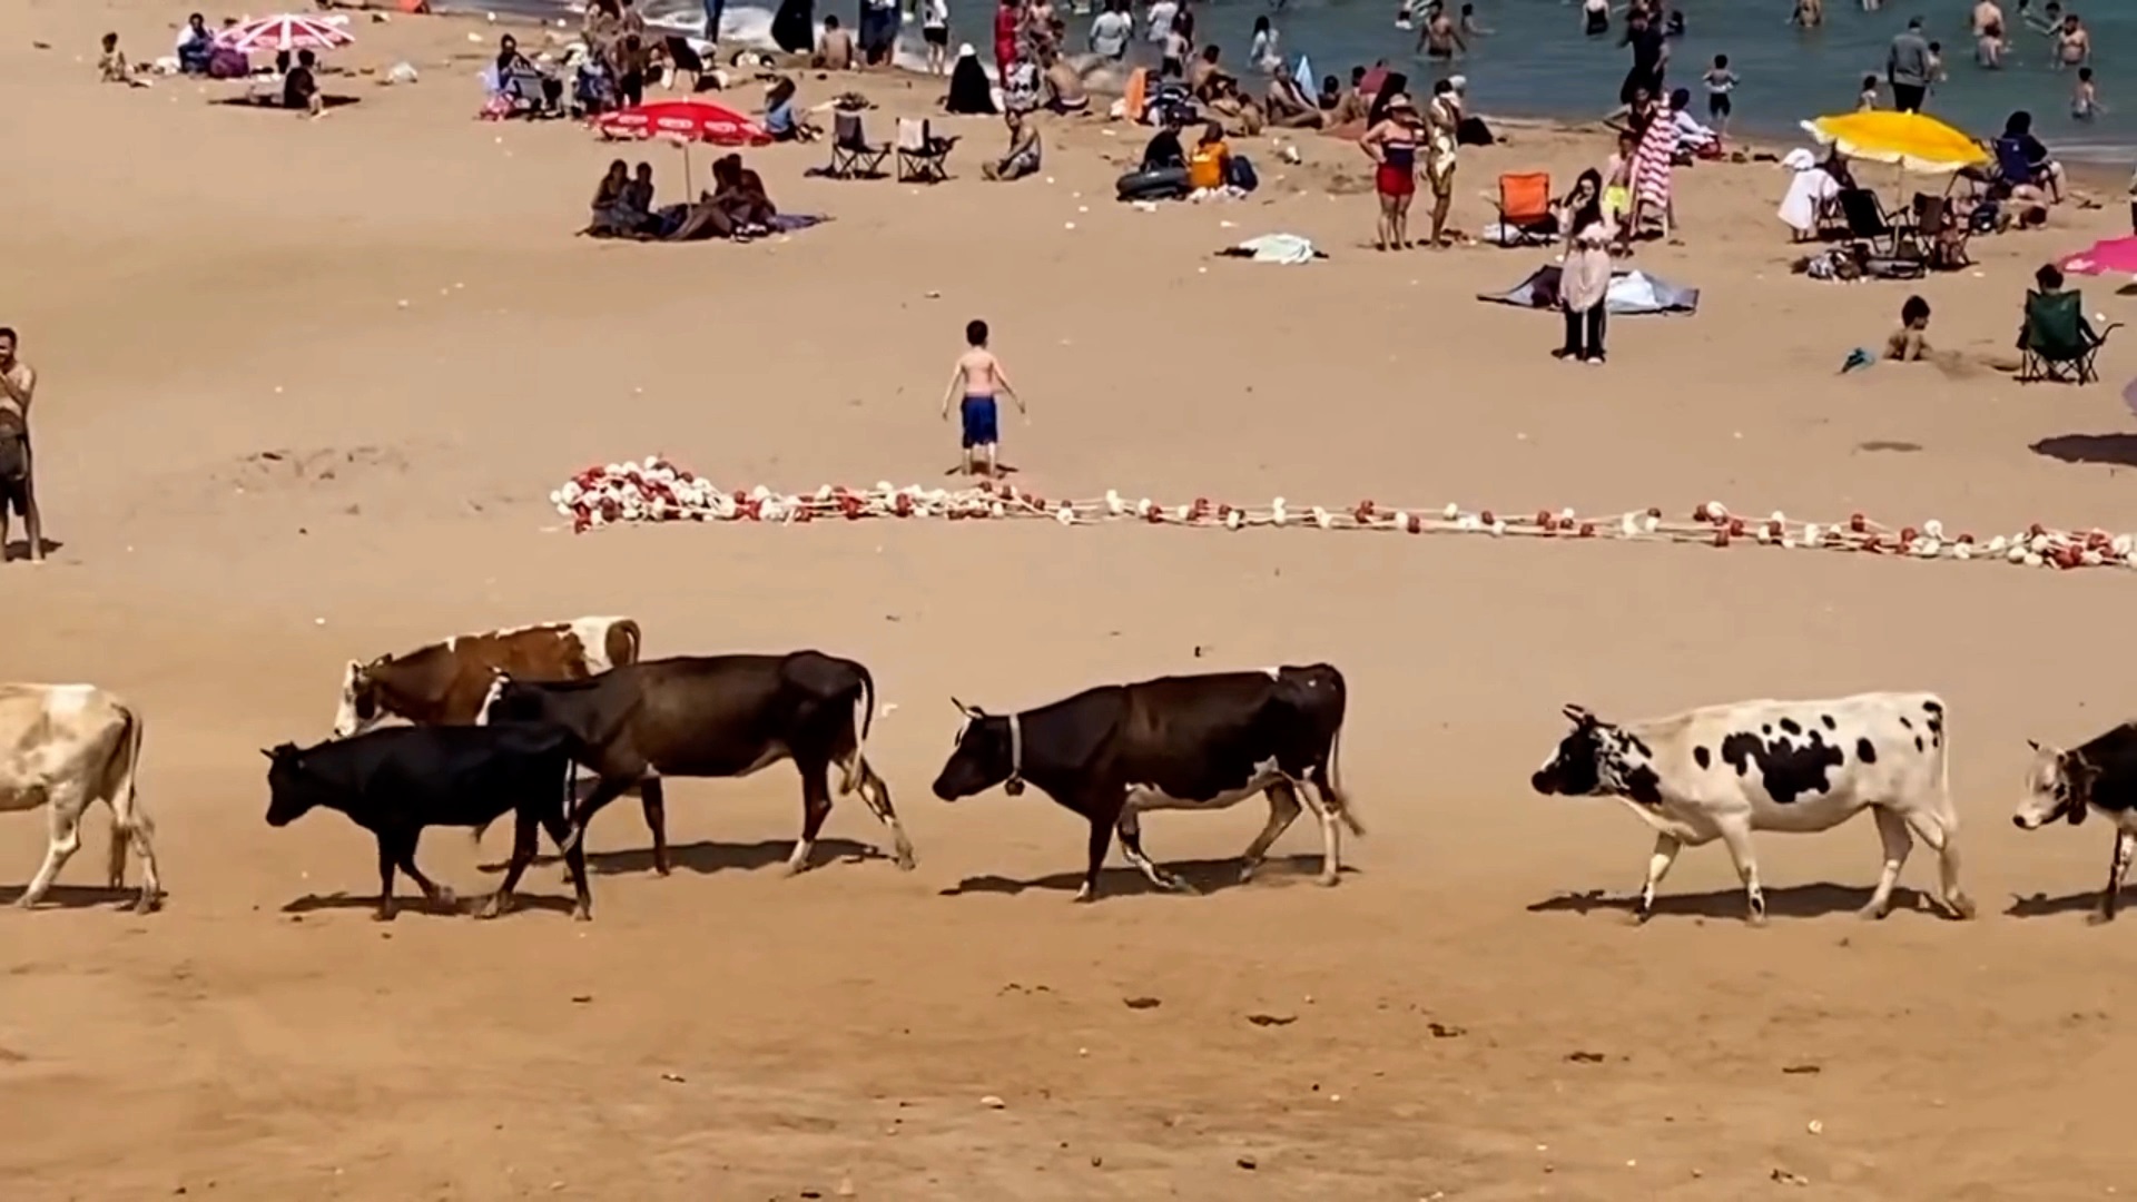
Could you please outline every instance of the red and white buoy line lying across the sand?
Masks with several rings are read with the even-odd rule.
[[[1387,507],[1359,500],[1342,509],[1293,505],[1282,496],[1267,505],[1231,505],[1197,496],[1186,505],[1163,505],[1126,498],[1107,490],[1096,500],[1058,500],[1024,492],[1011,483],[979,483],[977,488],[874,488],[823,486],[816,492],[748,492],[722,490],[690,475],[660,456],[643,462],[596,464],[571,477],[549,494],[558,513],[571,518],[575,533],[622,522],[774,522],[801,524],[818,520],[859,522],[863,518],[919,520],[1039,520],[1062,526],[1103,522],[1148,522],[1152,526],[1197,526],[1248,530],[1269,526],[1306,526],[1316,530],[1391,530],[1410,535],[1485,535],[1543,539],[1626,539],[1667,543],[1707,543],[1731,548],[1740,543],[1765,548],[1801,548],[1825,552],[1868,552],[1947,560],[1996,560],[2024,567],[2137,567],[2137,539],[2107,530],[2052,530],[2034,522],[2013,535],[1987,541],[1970,533],[1947,535],[1945,524],[1925,520],[1921,526],[1891,528],[1851,513],[1842,522],[1797,522],[1784,513],[1746,518],[1718,500],[1693,509],[1688,520],[1665,518],[1660,509],[1635,509],[1613,515],[1581,515],[1573,509],[1494,511],[1464,509],[1447,503],[1438,509]]]

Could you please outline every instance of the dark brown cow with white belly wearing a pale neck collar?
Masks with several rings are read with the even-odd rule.
[[[1325,663],[1101,684],[1017,714],[987,714],[951,697],[964,725],[934,793],[955,802],[1002,785],[1019,796],[1032,783],[1083,815],[1090,858],[1079,903],[1098,896],[1113,832],[1152,885],[1195,892],[1143,853],[1148,811],[1220,811],[1267,793],[1269,821],[1239,864],[1248,881],[1306,798],[1321,819],[1321,883],[1333,885],[1342,873],[1338,821],[1351,834],[1366,832],[1336,770],[1344,699],[1342,672]]]

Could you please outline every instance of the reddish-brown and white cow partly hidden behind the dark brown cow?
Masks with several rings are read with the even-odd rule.
[[[387,719],[417,725],[474,725],[489,682],[504,672],[519,680],[586,680],[637,663],[633,618],[573,618],[511,631],[453,635],[408,654],[348,661],[333,738],[363,734]]]

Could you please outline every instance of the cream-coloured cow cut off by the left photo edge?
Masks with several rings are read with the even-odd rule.
[[[126,847],[141,856],[135,911],[162,903],[156,826],[135,798],[141,712],[94,684],[0,684],[0,813],[51,806],[45,864],[15,903],[34,907],[81,847],[90,802],[111,806],[109,883],[126,888]]]

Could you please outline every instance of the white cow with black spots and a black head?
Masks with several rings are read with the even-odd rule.
[[[1960,819],[1951,808],[1945,702],[1934,693],[1857,693],[1829,702],[1735,702],[1667,719],[1607,723],[1564,708],[1573,731],[1530,776],[1539,793],[1618,798],[1654,828],[1654,856],[1633,922],[1654,913],[1654,890],[1686,845],[1729,847],[1750,924],[1765,924],[1765,890],[1750,832],[1816,832],[1857,811],[1876,815],[1885,845],[1863,918],[1891,913],[1891,890],[1919,834],[1940,858],[1938,900],[1972,918],[1960,888]]]

